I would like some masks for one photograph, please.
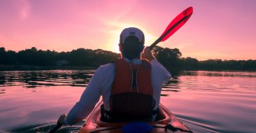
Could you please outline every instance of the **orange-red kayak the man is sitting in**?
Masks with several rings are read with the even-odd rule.
[[[146,123],[128,123],[128,122],[105,122],[100,120],[100,102],[92,111],[79,133],[86,132],[99,132],[99,133],[112,133],[112,132],[131,132],[131,130],[141,130],[145,126],[150,127],[147,132],[192,132],[186,125],[175,117],[165,106],[159,105],[159,114],[156,121]],[[140,128],[141,126],[141,128]],[[148,129],[148,128],[147,128]],[[132,131],[133,132],[133,131]]]

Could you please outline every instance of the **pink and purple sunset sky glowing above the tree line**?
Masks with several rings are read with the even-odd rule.
[[[150,46],[190,6],[190,20],[158,46],[199,60],[256,59],[254,0],[0,0],[0,47],[118,52],[126,27],[143,30]]]

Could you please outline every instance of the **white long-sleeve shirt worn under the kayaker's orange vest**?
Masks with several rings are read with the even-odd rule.
[[[139,59],[132,59],[131,61],[128,59],[125,60],[134,64],[142,63]],[[153,59],[151,64],[153,98],[156,101],[154,109],[156,109],[160,102],[162,84],[168,83],[171,78],[171,74],[156,59]],[[85,117],[91,113],[91,110],[94,109],[94,106],[99,101],[101,95],[104,102],[104,108],[106,110],[110,110],[109,100],[111,95],[111,85],[114,78],[115,64],[108,63],[106,65],[101,65],[94,73],[94,76],[92,76],[85,91],[83,91],[79,102],[76,102],[74,107],[68,113],[68,116],[65,119],[66,124],[74,125],[75,123],[85,119]]]

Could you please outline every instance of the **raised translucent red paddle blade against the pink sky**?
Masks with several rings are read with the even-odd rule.
[[[190,16],[193,14],[193,8],[187,8],[183,12],[181,12],[178,16],[176,16],[171,23],[168,25],[167,29],[165,29],[164,33],[160,36],[160,42],[167,40],[173,33],[175,33],[182,25],[188,21]]]

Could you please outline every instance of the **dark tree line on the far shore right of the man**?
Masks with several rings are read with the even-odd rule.
[[[256,70],[256,60],[222,60],[208,59],[198,61],[192,57],[182,57],[179,49],[155,46],[153,53],[156,59],[166,68],[179,70]]]

